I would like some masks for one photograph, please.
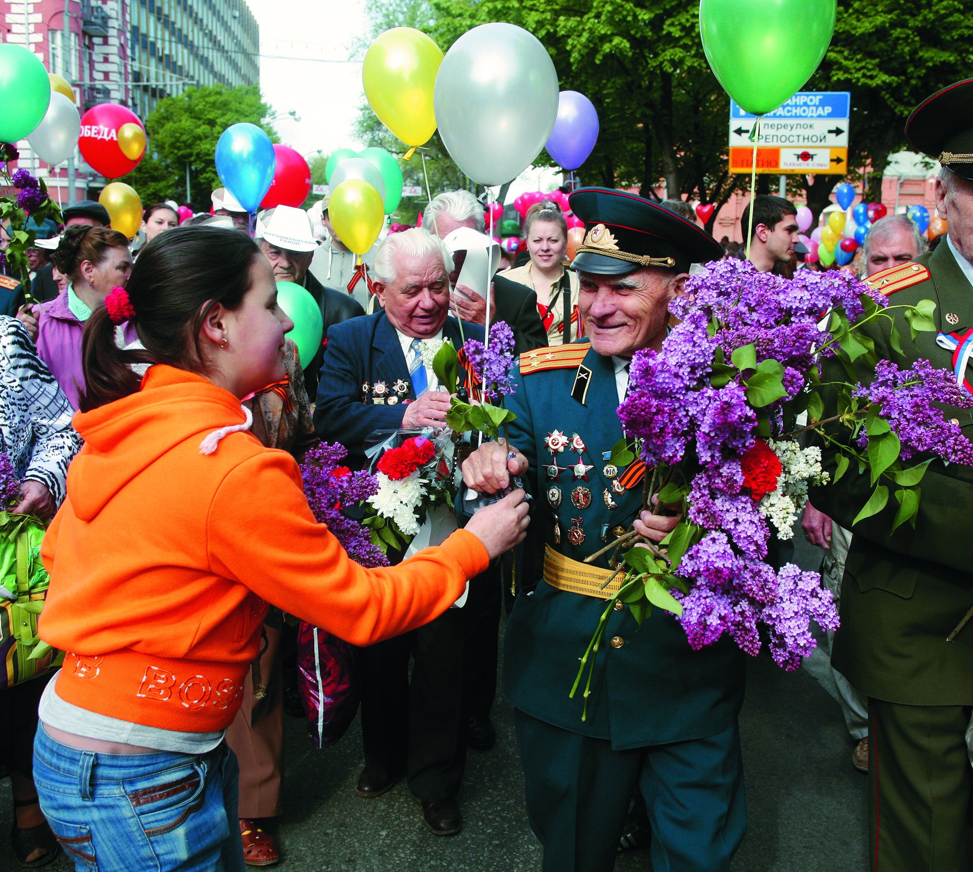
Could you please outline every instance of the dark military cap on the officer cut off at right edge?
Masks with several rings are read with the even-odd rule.
[[[973,79],[922,100],[906,122],[906,139],[916,151],[973,181]]]

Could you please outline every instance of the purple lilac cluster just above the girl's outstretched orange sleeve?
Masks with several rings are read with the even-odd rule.
[[[378,492],[378,480],[367,472],[351,472],[339,465],[348,454],[339,443],[322,442],[305,455],[301,465],[307,505],[334,534],[355,563],[365,567],[387,566],[388,560],[372,543],[369,530],[342,515],[342,507],[364,502]]]

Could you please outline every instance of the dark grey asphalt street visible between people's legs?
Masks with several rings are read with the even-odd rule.
[[[813,565],[803,542],[798,562]],[[279,841],[288,872],[470,872],[539,870],[540,849],[523,806],[513,712],[495,707],[499,739],[471,752],[461,803],[464,828],[437,838],[424,827],[404,783],[378,799],[360,799],[357,721],[338,745],[314,751],[304,723],[285,718],[285,803]],[[749,828],[735,872],[863,872],[866,868],[866,778],[851,768],[841,712],[805,672],[785,674],[770,657],[749,663],[741,718]],[[12,807],[0,784],[0,833]],[[6,836],[0,870],[14,869]],[[48,868],[66,870],[63,858]],[[651,869],[644,853],[622,857],[617,872]],[[135,870],[133,870],[135,872]]]

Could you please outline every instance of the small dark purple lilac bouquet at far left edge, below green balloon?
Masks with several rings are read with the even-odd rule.
[[[17,148],[9,143],[0,142],[0,177],[2,183],[13,192],[0,197],[0,223],[9,225],[10,242],[0,254],[0,270],[18,275],[26,289],[28,303],[36,302],[30,295],[30,269],[27,262],[27,249],[33,247],[37,234],[27,225],[28,216],[40,224],[46,218],[55,222],[61,220],[61,211],[48,197],[48,189],[26,169],[11,172],[10,163],[18,159]]]

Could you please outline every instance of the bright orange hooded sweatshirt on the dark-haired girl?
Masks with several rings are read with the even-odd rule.
[[[171,730],[227,727],[256,658],[267,603],[368,645],[420,627],[486,569],[457,530],[391,568],[353,563],[307,506],[294,459],[246,432],[212,382],[153,366],[141,390],[74,425],[85,447],[41,554],[41,637],[69,652],[61,699]]]

